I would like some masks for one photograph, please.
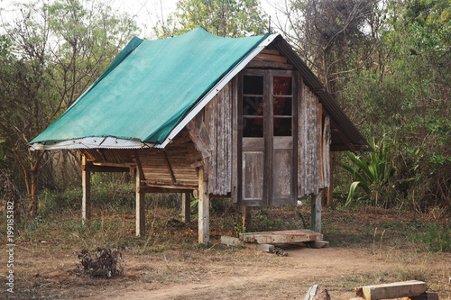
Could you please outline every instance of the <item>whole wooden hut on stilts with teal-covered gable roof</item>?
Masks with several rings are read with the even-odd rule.
[[[369,145],[279,34],[226,39],[202,28],[133,38],[34,150],[78,149],[82,217],[90,172],[136,177],[136,234],[145,193],[198,191],[199,242],[210,197],[289,205],[329,186],[329,153]],[[320,231],[320,203],[313,208]]]

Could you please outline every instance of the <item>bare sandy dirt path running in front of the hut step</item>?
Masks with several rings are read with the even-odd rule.
[[[247,251],[247,250],[246,250]],[[389,270],[393,266],[376,263],[362,252],[345,249],[320,249],[292,248],[287,250],[288,257],[277,257],[267,253],[249,253],[262,258],[255,264],[236,261],[232,264],[207,263],[205,267],[210,270],[201,278],[181,280],[176,283],[144,284],[140,283],[121,290],[105,291],[101,295],[88,296],[89,299],[258,299],[262,295],[262,287],[275,286],[272,292],[266,293],[265,298],[284,298],[284,294],[293,295],[295,298],[303,298],[307,289],[305,285],[299,286],[299,282],[312,282],[321,277],[346,277],[356,274],[370,273],[375,269]],[[237,253],[239,255],[239,253]],[[279,260],[279,261],[273,261]],[[274,262],[274,266],[271,266]],[[140,261],[131,261],[129,267],[138,267]],[[168,268],[175,264],[168,264]],[[134,273],[134,272],[133,272]],[[125,276],[127,271],[125,272]],[[280,285],[280,283],[293,285]],[[260,288],[259,288],[260,286]],[[277,287],[280,286],[280,287]],[[236,295],[230,291],[237,291]],[[272,295],[271,295],[272,294]],[[353,295],[352,288],[348,292],[330,291],[335,299],[349,298]],[[288,296],[287,295],[287,296]]]

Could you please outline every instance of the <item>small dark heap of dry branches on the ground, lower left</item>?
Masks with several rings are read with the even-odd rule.
[[[90,277],[111,278],[123,272],[124,259],[118,250],[97,247],[97,251],[89,253],[84,249],[78,254],[82,273]]]

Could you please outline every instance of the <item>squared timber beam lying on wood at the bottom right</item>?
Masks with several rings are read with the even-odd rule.
[[[355,295],[363,297],[366,300],[379,300],[421,295],[427,289],[428,285],[426,282],[410,280],[383,285],[356,287]]]

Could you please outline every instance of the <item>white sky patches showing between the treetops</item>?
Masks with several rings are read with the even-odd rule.
[[[175,11],[178,0],[111,0],[109,3],[120,12],[135,15],[138,25],[142,28],[141,38],[152,38],[152,27],[158,20],[165,20],[168,14]],[[5,21],[14,18],[12,7],[14,3],[27,3],[29,0],[0,0],[0,26]],[[262,10],[271,15],[272,20],[277,18],[277,10],[274,6],[280,6],[284,0],[260,0]],[[279,13],[280,15],[280,13]],[[272,21],[273,23],[273,21]],[[272,26],[273,27],[273,26]]]

